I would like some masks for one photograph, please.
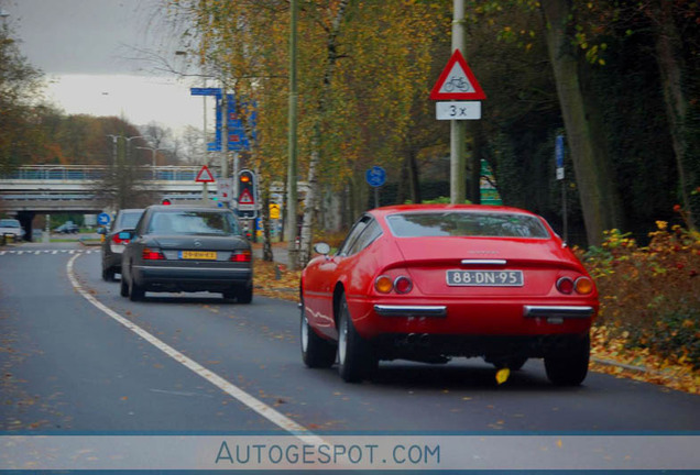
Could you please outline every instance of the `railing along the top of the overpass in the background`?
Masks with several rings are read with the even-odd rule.
[[[201,166],[140,166],[139,169],[145,179],[194,181]],[[209,169],[215,178],[219,176],[217,167],[210,166]],[[109,167],[105,165],[23,165],[0,174],[0,180],[98,180],[108,172]]]

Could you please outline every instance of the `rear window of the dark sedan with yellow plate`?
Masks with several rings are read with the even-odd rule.
[[[176,211],[153,214],[149,234],[240,234],[232,213]]]

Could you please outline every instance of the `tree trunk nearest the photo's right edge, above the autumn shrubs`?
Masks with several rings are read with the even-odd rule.
[[[680,187],[683,209],[687,212],[688,225],[694,229],[694,220],[690,203],[689,187],[696,183],[688,179],[686,172],[686,159],[689,155],[688,126],[688,101],[682,88],[683,60],[680,52],[680,35],[672,15],[672,2],[659,0],[658,10],[655,12],[655,48],[657,63],[664,91],[664,102],[666,106],[666,117],[670,129],[674,153],[676,155],[676,166],[678,167],[678,181]]]

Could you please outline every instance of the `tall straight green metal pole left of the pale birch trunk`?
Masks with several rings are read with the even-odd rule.
[[[288,136],[288,169],[287,169],[287,207],[286,207],[286,228],[285,234],[287,240],[287,250],[289,255],[289,268],[296,270],[298,261],[298,250],[296,247],[297,233],[297,164],[296,164],[296,106],[297,106],[297,81],[296,81],[296,55],[297,55],[297,18],[299,13],[298,0],[289,1],[291,21],[289,21],[289,136]]]

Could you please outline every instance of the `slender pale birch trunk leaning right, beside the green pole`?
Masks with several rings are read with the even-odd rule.
[[[320,164],[320,146],[321,146],[321,125],[327,110],[327,98],[330,93],[330,85],[332,81],[336,63],[338,62],[338,34],[340,33],[340,24],[344,18],[346,9],[350,0],[341,0],[338,5],[338,12],[333,19],[331,29],[328,33],[328,43],[326,49],[327,64],[324,74],[324,84],[321,87],[320,99],[316,108],[316,123],[311,136],[311,158],[308,167],[308,191],[304,200],[304,218],[302,221],[302,239],[299,245],[299,265],[304,267],[311,256],[311,238],[314,221],[316,218],[316,208],[318,206],[319,185],[318,185],[318,166]]]

